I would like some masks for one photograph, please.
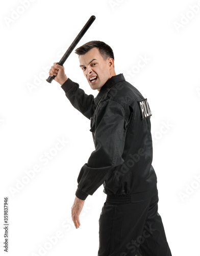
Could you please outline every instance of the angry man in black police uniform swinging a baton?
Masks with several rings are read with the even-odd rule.
[[[99,218],[98,256],[170,256],[158,214],[157,177],[152,166],[151,109],[147,99],[114,70],[114,54],[102,41],[76,50],[94,98],[57,65],[55,75],[66,97],[91,120],[95,151],[78,177],[71,216],[76,228],[88,195],[104,184],[106,202]]]

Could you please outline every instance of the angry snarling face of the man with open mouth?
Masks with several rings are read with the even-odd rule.
[[[112,58],[104,60],[97,48],[92,48],[86,54],[80,55],[79,61],[92,90],[100,91],[104,84],[116,75],[113,68],[114,60]]]

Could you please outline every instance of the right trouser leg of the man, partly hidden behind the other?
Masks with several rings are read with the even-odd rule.
[[[158,194],[149,205],[145,221],[145,240],[140,244],[137,256],[171,256],[161,216],[158,214]]]

